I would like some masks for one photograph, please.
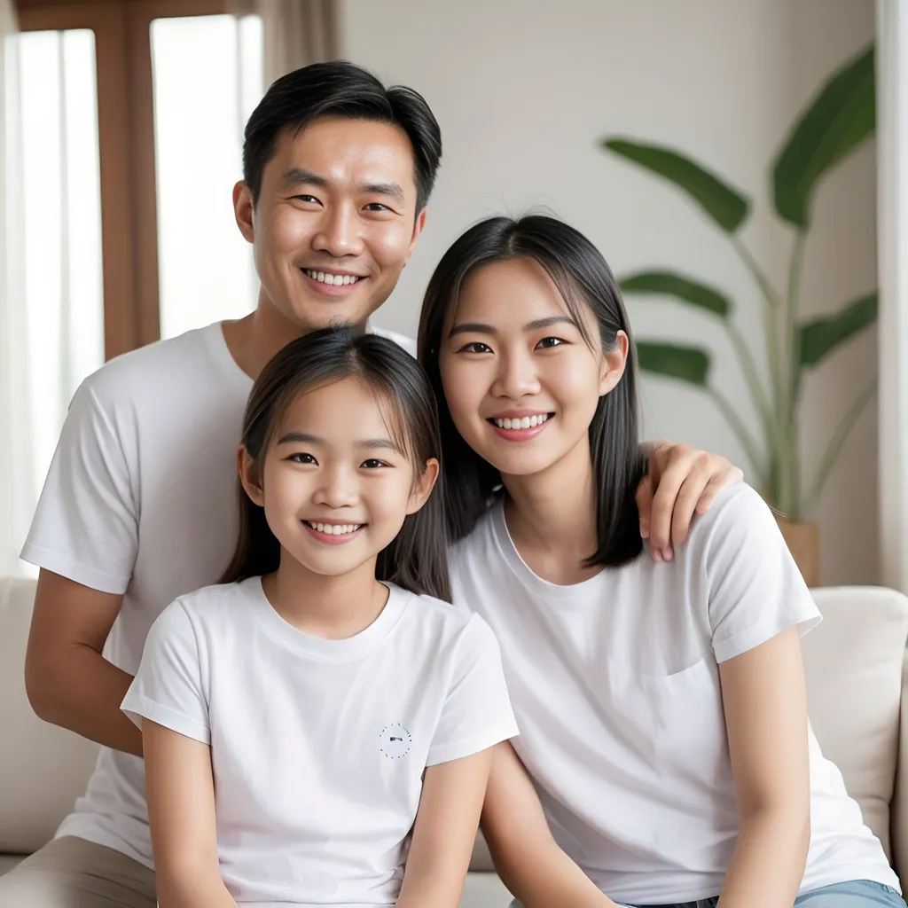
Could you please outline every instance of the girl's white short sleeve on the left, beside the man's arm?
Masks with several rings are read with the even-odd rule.
[[[121,708],[136,725],[151,719],[181,735],[211,743],[207,686],[192,620],[177,599],[152,625],[142,662]]]

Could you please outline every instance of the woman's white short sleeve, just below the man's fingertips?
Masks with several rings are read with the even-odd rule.
[[[820,613],[764,500],[742,484],[726,490],[713,509],[702,555],[716,661],[788,627],[801,634],[814,627]]]

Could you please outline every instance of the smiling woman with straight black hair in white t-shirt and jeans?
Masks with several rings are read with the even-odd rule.
[[[903,908],[809,735],[799,635],[819,616],[763,501],[726,489],[673,563],[638,557],[634,350],[594,246],[548,217],[479,223],[430,281],[419,355],[455,603],[498,637],[545,808],[498,748],[483,827],[512,892]]]

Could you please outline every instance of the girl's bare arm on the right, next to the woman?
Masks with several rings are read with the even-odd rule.
[[[489,748],[427,767],[397,908],[458,908],[491,754]]]

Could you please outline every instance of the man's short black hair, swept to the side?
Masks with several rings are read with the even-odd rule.
[[[441,130],[429,104],[405,85],[385,88],[347,60],[316,63],[281,76],[246,123],[242,175],[258,202],[262,173],[283,130],[294,135],[321,117],[393,123],[407,133],[416,161],[416,212],[429,201],[441,160]]]

